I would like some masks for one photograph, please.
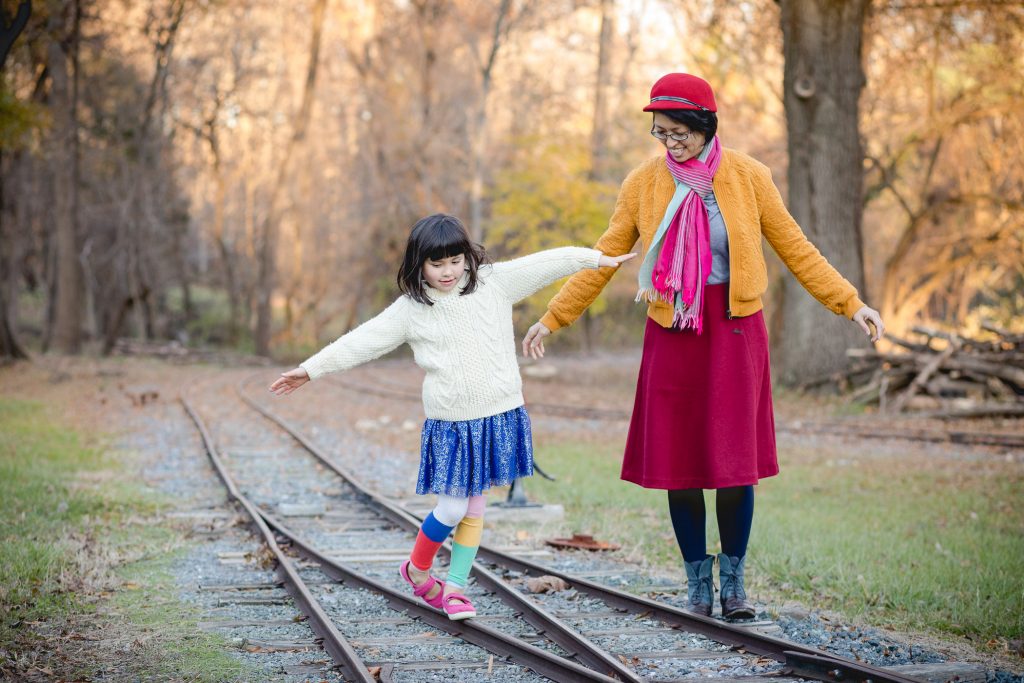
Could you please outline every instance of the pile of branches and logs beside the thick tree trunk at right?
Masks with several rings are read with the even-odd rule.
[[[886,335],[900,350],[850,349],[840,387],[881,412],[933,418],[1024,417],[1024,334],[983,326],[985,338],[912,328],[920,341]]]

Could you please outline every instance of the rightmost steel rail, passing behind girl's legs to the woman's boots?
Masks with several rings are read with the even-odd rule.
[[[351,486],[358,490],[367,501],[373,502],[374,505],[379,507],[385,516],[393,522],[410,530],[419,528],[419,525],[422,522],[419,517],[411,514],[393,501],[390,501],[370,489],[347,468],[336,463],[315,443],[310,441],[298,429],[293,427],[291,423],[269,409],[260,405],[256,400],[247,396],[243,390],[244,383],[245,380],[240,382],[236,387],[236,390],[238,391],[239,396],[246,403],[288,432],[292,438],[308,451],[310,455],[345,479]],[[480,546],[478,556],[493,564],[512,568],[523,573],[559,578],[566,582],[569,586],[575,588],[578,591],[603,600],[609,605],[613,605],[629,612],[650,612],[655,618],[666,622],[674,627],[691,633],[699,633],[722,643],[742,647],[753,653],[762,654],[777,661],[781,661],[790,668],[798,666],[799,661],[803,661],[803,664],[806,665],[806,659],[796,659],[796,656],[813,656],[818,659],[827,659],[831,665],[831,669],[829,671],[839,671],[841,673],[842,680],[848,683],[866,683],[868,681],[871,683],[922,683],[921,679],[904,676],[879,667],[871,667],[852,659],[828,654],[822,652],[821,650],[801,645],[800,643],[776,638],[766,634],[756,633],[739,626],[720,622],[709,616],[693,614],[679,609],[678,607],[673,607],[672,605],[626,593],[587,579],[573,577],[571,574],[558,571],[552,567],[546,567],[530,562],[529,560],[504,553],[486,545]],[[474,572],[478,572],[477,575],[479,578],[484,578],[487,574],[493,575],[493,572],[490,572],[486,567],[483,567],[479,562],[474,563],[473,570]],[[498,581],[501,582],[501,580]],[[501,585],[504,586],[504,582],[501,582]],[[522,597],[522,599],[528,604],[536,605],[532,601],[519,595],[518,592],[516,592],[516,595],[518,597]],[[824,678],[818,677],[818,680],[835,681],[838,679],[833,676],[828,676]]]

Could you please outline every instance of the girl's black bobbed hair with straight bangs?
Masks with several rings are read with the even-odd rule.
[[[398,289],[414,301],[434,305],[427,296],[423,264],[428,260],[437,261],[459,254],[466,257],[466,271],[469,273],[469,282],[460,292],[460,296],[463,296],[476,291],[477,270],[480,265],[488,262],[486,252],[483,247],[470,240],[466,226],[455,216],[435,213],[421,218],[409,233],[406,257],[398,270]]]

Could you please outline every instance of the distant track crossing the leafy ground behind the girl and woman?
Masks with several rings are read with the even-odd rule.
[[[404,385],[387,378],[375,377],[373,384],[335,377],[329,378],[329,381],[350,391],[358,391],[360,393],[404,401],[421,400],[418,393],[411,392],[404,388]],[[570,420],[628,421],[632,415],[630,411],[613,408],[549,403],[545,401],[529,401],[526,407],[538,415],[567,418]],[[858,425],[842,420],[800,421],[792,424],[777,423],[775,430],[790,434],[814,433],[828,434],[830,436],[851,436],[855,438],[899,439],[928,443],[959,443],[964,445],[994,445],[1005,449],[1024,449],[1024,434],[963,429],[887,429],[879,425]]]

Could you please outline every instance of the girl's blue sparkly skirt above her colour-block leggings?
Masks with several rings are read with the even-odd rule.
[[[534,438],[522,405],[477,420],[423,423],[417,494],[468,498],[534,474]]]

